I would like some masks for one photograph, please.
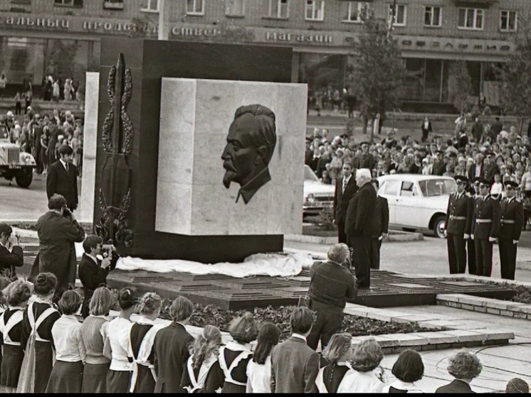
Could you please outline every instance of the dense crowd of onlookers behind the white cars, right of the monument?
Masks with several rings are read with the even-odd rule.
[[[421,123],[417,140],[411,135],[396,138],[396,130],[389,129],[381,141],[356,143],[347,134],[329,138],[326,129],[315,129],[306,140],[305,163],[324,183],[335,183],[342,164],[349,160],[354,168],[369,168],[373,178],[419,173],[463,175],[471,181],[485,177],[493,184],[514,180],[525,196],[531,197],[530,138],[520,136],[514,126],[497,119],[484,126],[479,117],[472,124],[458,121],[463,120],[460,117],[456,134],[446,140],[441,135],[433,136],[427,118]]]

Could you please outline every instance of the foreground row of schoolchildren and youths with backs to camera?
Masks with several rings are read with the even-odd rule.
[[[352,344],[335,333],[317,354],[307,344],[312,310],[298,307],[291,335],[280,340],[272,322],[259,324],[251,312],[231,322],[231,342],[206,325],[193,337],[186,331],[194,305],[179,297],[169,310],[172,322],[155,321],[162,309],[156,293],[141,297],[122,288],[114,298],[96,288],[89,314],[78,320],[82,297],[67,290],[53,303],[57,278],[39,273],[32,283],[0,279],[6,308],[0,314],[0,388],[19,393],[419,393],[424,376],[418,352],[407,349],[394,362],[389,380],[382,348],[372,337]],[[117,302],[115,302],[117,300]],[[115,304],[120,311],[111,318]],[[132,320],[137,312],[136,320]],[[436,393],[472,392],[482,364],[466,349],[448,360],[453,381]],[[527,393],[511,379],[508,393]],[[433,391],[431,391],[433,392]]]

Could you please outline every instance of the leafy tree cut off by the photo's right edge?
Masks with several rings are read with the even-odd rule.
[[[515,53],[498,68],[500,99],[505,112],[517,116],[520,126],[531,115],[531,13],[518,16],[518,34],[513,38]]]

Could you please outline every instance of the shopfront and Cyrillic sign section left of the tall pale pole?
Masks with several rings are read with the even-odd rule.
[[[102,36],[128,36],[136,31],[157,34],[118,19],[2,13],[0,73],[6,76],[9,94],[19,90],[23,80],[41,86],[46,75],[83,82],[85,72],[99,69]],[[38,96],[36,90],[33,94]]]

